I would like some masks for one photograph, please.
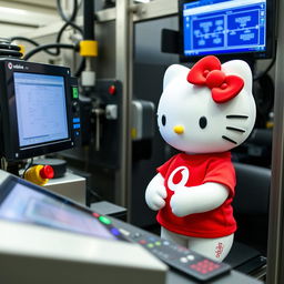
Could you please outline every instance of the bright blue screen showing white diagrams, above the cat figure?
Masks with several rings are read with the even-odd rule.
[[[265,0],[201,0],[183,6],[184,55],[266,50]]]

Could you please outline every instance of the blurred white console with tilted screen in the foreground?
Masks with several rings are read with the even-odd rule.
[[[106,216],[0,171],[3,283],[164,283],[166,266]]]

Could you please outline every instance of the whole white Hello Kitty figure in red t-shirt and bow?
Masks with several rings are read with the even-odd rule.
[[[181,153],[158,168],[145,192],[149,207],[159,210],[162,237],[220,262],[227,255],[236,230],[230,150],[248,136],[255,115],[244,61],[221,64],[209,55],[191,70],[166,70],[158,124]]]

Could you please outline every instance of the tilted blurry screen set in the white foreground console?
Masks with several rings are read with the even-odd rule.
[[[91,212],[61,196],[10,178],[0,191],[0,219],[116,240]]]

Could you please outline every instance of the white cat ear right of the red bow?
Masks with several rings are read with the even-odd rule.
[[[250,65],[243,60],[232,60],[222,64],[222,71],[226,75],[239,75],[244,80],[244,89],[252,92],[253,75]]]

